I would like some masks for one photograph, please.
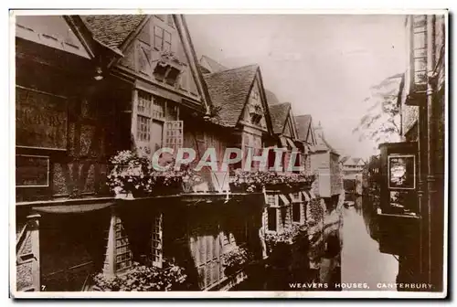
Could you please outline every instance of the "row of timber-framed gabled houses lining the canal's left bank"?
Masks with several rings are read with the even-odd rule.
[[[182,268],[178,290],[227,290],[246,279],[247,263],[227,270],[231,256],[269,258],[269,231],[305,225],[306,204],[320,203],[309,186],[229,186],[237,169],[260,169],[262,148],[284,148],[282,167],[292,151],[296,166],[307,161],[290,105],[275,131],[259,66],[214,67],[198,62],[184,16],[17,18],[18,291],[103,290],[95,276],[106,285],[137,263]],[[173,193],[114,196],[112,157],[143,161],[163,147],[197,160],[213,148],[218,170],[227,148],[244,155]]]

